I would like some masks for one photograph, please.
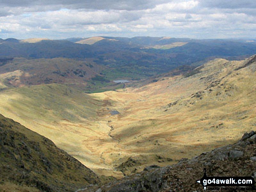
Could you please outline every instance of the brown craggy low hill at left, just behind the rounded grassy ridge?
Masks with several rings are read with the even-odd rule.
[[[0,79],[3,79],[7,86],[15,87],[51,83],[74,84],[81,87],[86,86],[87,81],[99,75],[105,68],[93,61],[68,58],[6,58],[2,59],[2,64],[0,63]]]

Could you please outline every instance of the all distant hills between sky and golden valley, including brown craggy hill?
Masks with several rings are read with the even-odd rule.
[[[255,40],[171,37],[89,37],[66,40],[10,38],[0,39],[0,71],[22,71],[18,80],[8,80],[14,86],[72,82],[86,92],[97,92],[119,88],[119,85],[113,84],[114,80],[136,81],[177,67],[184,71],[190,70],[214,58],[240,60],[255,53]]]

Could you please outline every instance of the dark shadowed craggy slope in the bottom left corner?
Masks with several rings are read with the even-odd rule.
[[[51,140],[3,115],[0,175],[0,191],[71,192],[100,181],[94,172]]]

